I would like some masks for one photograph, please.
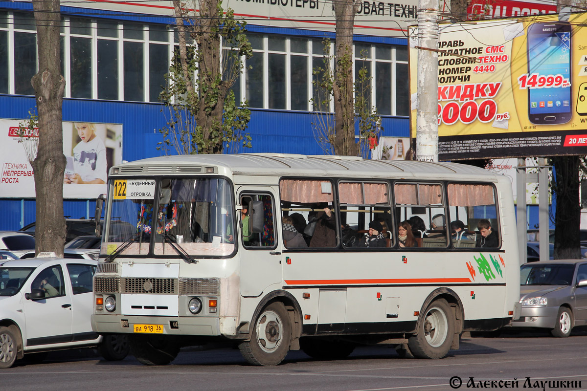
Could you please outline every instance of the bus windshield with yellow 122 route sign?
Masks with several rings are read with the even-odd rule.
[[[103,254],[112,254],[129,240],[133,243],[122,251],[124,256],[177,257],[177,246],[190,256],[228,256],[234,251],[235,208],[227,180],[114,179],[110,185]]]

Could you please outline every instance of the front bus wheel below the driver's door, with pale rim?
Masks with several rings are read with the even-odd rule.
[[[253,365],[278,365],[289,351],[292,328],[288,311],[281,302],[265,307],[257,320],[251,341],[241,342],[238,348],[248,363]]]

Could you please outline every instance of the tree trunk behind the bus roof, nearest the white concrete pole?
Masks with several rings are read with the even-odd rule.
[[[333,1],[336,15],[336,57],[334,67],[335,141],[336,155],[356,156],[355,105],[353,103],[353,24],[358,5],[355,0]]]

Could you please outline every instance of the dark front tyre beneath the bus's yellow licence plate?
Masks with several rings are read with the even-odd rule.
[[[180,352],[179,345],[164,336],[131,335],[129,342],[130,351],[144,365],[167,365]]]

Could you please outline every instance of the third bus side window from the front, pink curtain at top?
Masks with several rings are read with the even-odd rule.
[[[437,183],[394,185],[396,218],[407,220],[418,247],[447,246],[447,219],[443,188]]]

